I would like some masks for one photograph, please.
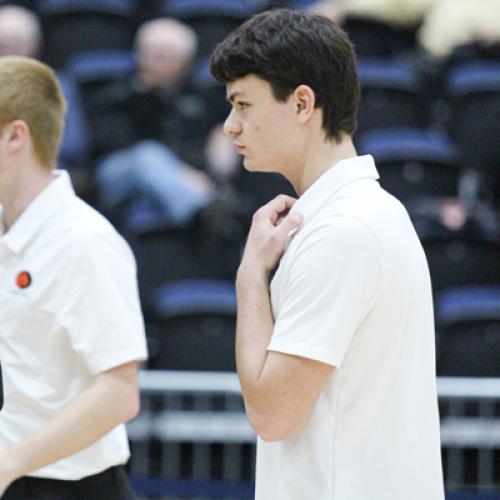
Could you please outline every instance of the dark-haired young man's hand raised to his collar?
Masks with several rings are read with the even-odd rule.
[[[290,232],[304,219],[300,213],[288,213],[296,201],[281,194],[255,212],[241,267],[266,274],[276,267]]]

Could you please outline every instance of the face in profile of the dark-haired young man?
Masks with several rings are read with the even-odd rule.
[[[230,82],[231,112],[224,132],[233,138],[249,171],[285,173],[294,159],[295,104],[292,97],[278,102],[271,86],[255,75]]]

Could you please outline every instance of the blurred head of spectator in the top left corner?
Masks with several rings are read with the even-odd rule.
[[[16,5],[0,7],[0,56],[37,57],[42,43],[36,15]]]

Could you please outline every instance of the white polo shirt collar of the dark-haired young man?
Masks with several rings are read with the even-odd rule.
[[[360,179],[379,179],[375,161],[371,155],[355,156],[335,163],[295,202],[292,212],[304,215],[304,223],[310,219],[336,192],[346,184]]]

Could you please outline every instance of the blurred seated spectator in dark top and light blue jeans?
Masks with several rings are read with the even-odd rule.
[[[136,73],[92,102],[99,152],[108,153],[97,167],[101,208],[118,224],[189,226],[216,200],[207,164],[223,181],[234,170],[234,148],[221,140],[209,103],[189,79],[196,48],[187,25],[146,22],[136,37]]]

